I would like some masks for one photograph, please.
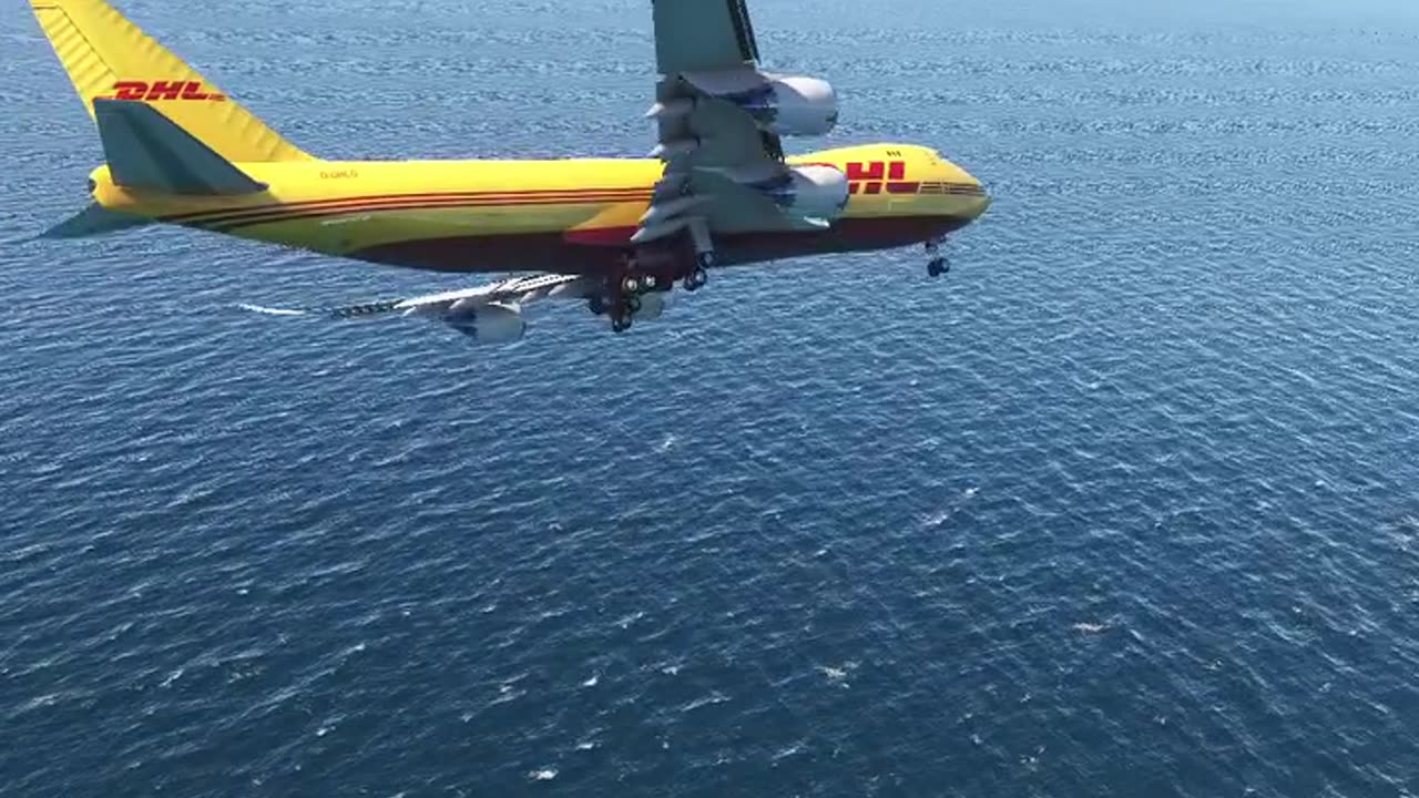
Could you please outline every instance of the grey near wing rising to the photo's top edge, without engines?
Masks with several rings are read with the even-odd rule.
[[[789,180],[778,133],[753,115],[769,88],[745,0],[653,0],[656,105],[666,172],[633,241],[647,243],[704,220],[721,231],[816,226],[785,213],[772,190]]]

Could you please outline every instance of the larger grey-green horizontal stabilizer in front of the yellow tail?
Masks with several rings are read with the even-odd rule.
[[[109,173],[119,186],[189,196],[251,195],[267,189],[152,105],[95,99],[94,118]]]

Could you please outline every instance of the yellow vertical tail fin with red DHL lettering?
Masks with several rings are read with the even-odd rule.
[[[122,101],[123,106],[148,106],[152,116],[186,131],[220,160],[312,159],[104,0],[30,0],[30,6],[101,132],[98,108]],[[116,114],[115,124],[139,118],[156,124],[132,108]],[[108,151],[106,135],[104,145]]]

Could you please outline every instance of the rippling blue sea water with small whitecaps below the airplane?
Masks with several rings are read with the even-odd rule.
[[[319,155],[651,143],[643,0],[121,7]],[[101,153],[0,16],[4,795],[1419,795],[1419,6],[752,10],[827,143],[989,185],[955,271],[505,348],[16,241]]]

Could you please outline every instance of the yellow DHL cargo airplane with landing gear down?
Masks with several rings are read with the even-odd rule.
[[[978,179],[928,146],[786,156],[822,136],[833,87],[759,67],[746,0],[653,0],[660,81],[640,159],[322,160],[298,149],[104,0],[30,0],[98,126],[92,203],[44,233],[176,224],[328,256],[502,281],[339,308],[248,310],[430,318],[517,341],[524,307],[575,300],[612,329],[661,315],[678,281],[824,253],[942,244],[986,212]],[[534,273],[528,275],[528,273]]]

